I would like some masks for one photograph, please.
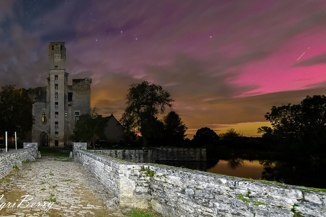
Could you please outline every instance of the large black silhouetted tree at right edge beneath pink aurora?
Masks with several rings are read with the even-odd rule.
[[[305,151],[325,148],[326,96],[307,96],[300,104],[273,106],[265,115],[273,134]]]

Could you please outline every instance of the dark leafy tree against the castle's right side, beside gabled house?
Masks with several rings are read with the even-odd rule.
[[[74,141],[92,142],[92,148],[95,148],[95,136],[104,139],[105,126],[106,121],[97,114],[96,107],[91,108],[89,113],[79,116],[79,120],[75,123],[72,139]]]

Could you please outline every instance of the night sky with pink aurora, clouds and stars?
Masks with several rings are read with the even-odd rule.
[[[0,86],[45,86],[49,42],[65,41],[69,83],[93,79],[98,113],[119,119],[145,80],[171,93],[188,137],[255,136],[272,106],[326,94],[325,39],[326,1],[1,0]]]

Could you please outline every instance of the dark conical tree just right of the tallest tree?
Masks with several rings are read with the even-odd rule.
[[[185,132],[188,128],[185,126],[178,113],[170,111],[168,115],[163,118],[163,123],[164,134],[169,143],[179,143],[185,138]]]

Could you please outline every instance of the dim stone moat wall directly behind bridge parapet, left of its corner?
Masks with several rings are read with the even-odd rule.
[[[155,163],[154,149],[107,149],[107,150],[92,150],[96,153],[119,158],[134,163]]]

